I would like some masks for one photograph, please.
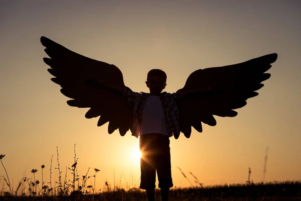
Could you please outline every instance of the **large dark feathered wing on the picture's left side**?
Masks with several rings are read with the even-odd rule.
[[[101,80],[109,85],[126,88],[121,71],[115,65],[72,52],[46,37],[41,37],[41,43],[50,57],[43,60],[51,67],[48,69],[50,74],[55,76],[51,80],[61,85],[64,95],[72,98],[67,104],[90,108],[86,118],[100,116],[97,126],[109,122],[109,134],[119,129],[120,135],[125,135],[132,125],[132,108],[124,102],[121,94],[89,84]]]

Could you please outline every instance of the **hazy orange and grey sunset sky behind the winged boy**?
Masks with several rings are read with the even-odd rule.
[[[58,181],[56,147],[64,174],[76,144],[78,173],[100,169],[97,188],[105,180],[114,185],[113,171],[116,183],[123,171],[123,186],[139,184],[139,159],[132,157],[138,139],[129,132],[108,135],[107,124],[85,119],[87,109],[66,104],[43,62],[41,36],[118,66],[125,85],[145,92],[152,68],[167,72],[166,91],[174,92],[197,69],[278,53],[271,78],[237,117],[217,118],[217,126],[193,130],[190,139],[171,138],[172,175],[177,187],[190,186],[177,166],[205,185],[244,183],[251,167],[251,180],[262,181],[269,147],[266,180],[300,180],[300,19],[297,0],[1,1],[0,154],[11,182],[16,187],[23,176],[32,177],[33,168],[41,180],[42,164],[49,182],[52,155],[52,182]]]

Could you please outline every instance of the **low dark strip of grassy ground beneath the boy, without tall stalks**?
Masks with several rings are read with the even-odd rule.
[[[65,196],[0,196],[0,200],[147,200],[144,191],[123,189],[100,194],[82,194],[73,191]],[[160,190],[156,191],[160,199]],[[197,188],[179,188],[170,191],[170,200],[301,200],[301,182],[233,184]]]

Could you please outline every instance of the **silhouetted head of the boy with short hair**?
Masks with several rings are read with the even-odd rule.
[[[145,81],[146,86],[149,88],[150,94],[159,94],[166,86],[167,75],[163,70],[152,69],[147,73]]]

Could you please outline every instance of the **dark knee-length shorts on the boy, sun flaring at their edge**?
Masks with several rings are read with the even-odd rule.
[[[173,187],[169,136],[158,133],[144,134],[140,136],[139,141],[141,152],[140,188],[156,187],[156,170],[159,188]]]

